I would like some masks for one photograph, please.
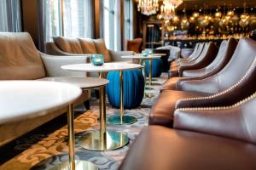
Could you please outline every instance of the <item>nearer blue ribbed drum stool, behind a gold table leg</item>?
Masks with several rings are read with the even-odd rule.
[[[106,90],[109,103],[114,108],[119,108],[119,71],[108,72],[107,79],[109,80],[109,83]],[[144,94],[144,77],[142,71],[123,71],[123,85],[124,108],[137,108],[142,103]]]

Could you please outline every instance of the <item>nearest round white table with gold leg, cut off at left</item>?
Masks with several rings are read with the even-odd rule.
[[[26,121],[44,116],[50,111],[68,105],[69,161],[53,169],[98,169],[90,161],[75,161],[73,133],[73,101],[81,89],[67,83],[44,81],[0,81],[0,124]],[[77,168],[76,168],[77,167]]]

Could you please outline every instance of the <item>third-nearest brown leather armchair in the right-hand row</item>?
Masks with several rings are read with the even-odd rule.
[[[218,54],[210,65],[199,70],[183,71],[183,77],[172,77],[168,79],[161,87],[161,91],[166,89],[177,90],[177,83],[189,80],[202,80],[217,74],[230,61],[235,52],[236,45],[237,42],[234,38],[221,42]]]

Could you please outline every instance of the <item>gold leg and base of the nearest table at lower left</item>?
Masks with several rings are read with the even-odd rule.
[[[51,170],[82,170],[90,169],[97,170],[95,164],[90,161],[75,161],[75,138],[74,138],[74,126],[73,126],[73,105],[68,105],[67,109],[67,128],[68,128],[68,161],[57,164],[55,167],[52,167]]]

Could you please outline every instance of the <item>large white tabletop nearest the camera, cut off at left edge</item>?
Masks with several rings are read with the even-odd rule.
[[[43,116],[68,105],[82,90],[61,82],[0,81],[0,124]]]

